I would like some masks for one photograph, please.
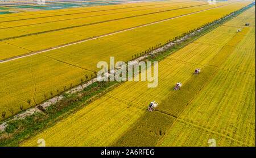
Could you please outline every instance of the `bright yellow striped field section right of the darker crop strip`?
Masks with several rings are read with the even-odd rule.
[[[255,19],[249,16],[254,9],[241,15]],[[230,23],[236,26],[238,19]],[[254,32],[251,27],[158,145],[207,146],[215,139],[217,146],[255,146],[255,41],[249,44]]]

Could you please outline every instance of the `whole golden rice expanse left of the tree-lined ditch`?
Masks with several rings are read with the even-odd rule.
[[[48,11],[48,13],[17,13],[17,17],[14,15],[9,15],[8,17],[7,15],[1,15],[0,19],[6,20],[12,17],[14,18],[13,20],[19,20],[18,22],[22,22],[24,19],[31,18],[36,18],[34,20],[38,20],[43,18],[43,16],[52,16],[52,18],[54,18],[53,15],[64,16],[63,14],[72,14],[72,11],[75,13],[80,13],[82,11],[98,11],[103,13],[105,10],[121,12],[121,16],[122,14],[126,14],[125,12],[131,8],[137,8],[139,11],[134,11],[134,14],[139,14],[141,12],[144,13],[144,11],[145,13],[148,13],[149,10],[147,10],[147,7],[156,7],[156,10],[166,10],[173,9],[175,7],[179,8],[180,6],[183,6],[183,3],[184,6],[195,5],[194,1],[184,1],[173,5],[175,3],[176,1],[162,1],[119,6],[88,7],[74,10],[55,10]],[[197,1],[196,4],[197,3],[201,4],[205,2]],[[230,4],[225,5],[227,3]],[[73,44],[67,47],[43,52],[38,55],[27,56],[22,59],[0,63],[0,73],[2,74],[0,76],[0,85],[2,85],[0,88],[0,111],[1,113],[6,114],[5,118],[8,118],[11,115],[27,109],[28,107],[32,107],[54,95],[57,95],[57,92],[63,92],[64,87],[69,88],[71,85],[78,85],[81,82],[81,79],[85,81],[86,75],[89,76],[89,79],[94,77],[93,72],[97,71],[96,65],[98,61],[109,61],[110,56],[115,56],[116,61],[129,61],[132,59],[134,54],[146,51],[148,48],[154,47],[159,43],[164,44],[167,40],[174,39],[176,36],[179,36],[184,32],[199,28],[213,20],[220,19],[226,14],[249,5],[249,3],[249,1],[236,3],[233,3],[233,1],[220,2],[220,4],[225,6],[134,28],[133,30],[119,32],[118,34],[108,35],[98,39],[84,41],[79,44]],[[168,4],[170,6],[168,6]],[[217,3],[217,5],[220,4]],[[144,6],[147,7],[144,8]],[[142,24],[155,22],[161,19],[172,18],[177,15],[193,13],[194,11],[208,9],[209,6],[210,5],[195,6],[179,10],[136,16],[129,19],[113,20],[110,22],[98,23],[93,26],[88,25],[2,40],[0,41],[0,45],[3,45],[3,47],[0,48],[0,60],[50,47],[56,47],[57,45],[72,43],[73,41],[86,39],[92,36],[105,35],[110,32],[125,30],[130,27],[140,26]],[[127,10],[122,13],[122,9]],[[118,14],[113,14],[113,16],[117,16]],[[98,16],[98,18],[100,17],[101,16]],[[82,22],[82,20],[77,20],[78,22]],[[195,23],[195,21],[197,22]],[[65,22],[65,20],[63,22]],[[49,24],[49,26],[42,27],[42,29],[51,30],[51,24],[45,24]],[[64,26],[64,24],[60,25]],[[31,27],[32,25],[30,26],[28,24],[28,26]],[[20,34],[18,34],[18,36],[19,35]],[[222,35],[220,34],[220,36]],[[220,40],[216,40],[216,42],[220,42]],[[0,120],[5,118],[1,117]]]

